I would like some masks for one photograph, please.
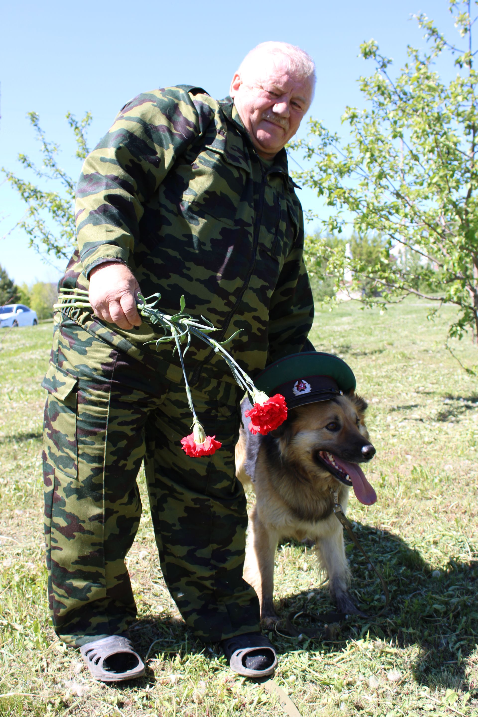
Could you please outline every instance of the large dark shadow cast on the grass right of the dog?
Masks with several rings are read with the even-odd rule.
[[[465,673],[465,660],[478,637],[478,561],[449,559],[445,569],[429,565],[419,551],[388,531],[354,523],[365,551],[388,584],[390,605],[381,617],[383,592],[368,561],[346,540],[352,570],[350,594],[355,604],[371,617],[353,616],[338,630],[330,651],[345,647],[347,640],[369,635],[394,647],[419,645],[421,657],[413,666],[418,683],[430,687],[462,688],[476,693],[476,675]],[[314,614],[331,608],[326,587],[287,599],[279,617],[304,610]],[[317,624],[314,624],[317,627]]]

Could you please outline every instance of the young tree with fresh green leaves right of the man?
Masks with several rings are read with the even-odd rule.
[[[461,338],[470,329],[478,333],[478,75],[469,4],[451,9],[465,46],[417,16],[429,49],[409,47],[408,62],[393,76],[375,40],[360,46],[374,65],[360,77],[366,109],[345,108],[348,142],[312,120],[308,141],[296,148],[313,165],[295,176],[330,209],[325,232],[352,230],[369,244],[383,241],[375,257],[360,255],[357,245],[345,256],[343,246],[309,237],[307,255],[319,257],[312,272],[326,266],[336,288],[360,292],[368,304],[406,293],[453,303],[461,313],[450,335]],[[436,72],[440,55],[461,68],[452,80]]]

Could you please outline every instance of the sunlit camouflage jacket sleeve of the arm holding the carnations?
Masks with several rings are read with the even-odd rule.
[[[77,237],[87,276],[105,261],[128,264],[143,204],[203,132],[211,111],[178,87],[146,92],[123,107],[85,159],[77,185]]]

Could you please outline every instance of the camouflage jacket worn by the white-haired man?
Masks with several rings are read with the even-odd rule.
[[[87,156],[75,212],[79,248],[60,286],[88,288],[93,267],[125,262],[166,313],[184,294],[188,313],[220,329],[214,338],[240,329],[228,351],[253,376],[305,345],[313,303],[287,156],[260,161],[231,98],[168,87],[131,100]],[[88,310],[64,313],[140,360],[177,363],[173,344],[144,346],[162,335],[145,321],[123,331]],[[199,340],[185,359],[192,382],[227,373]]]

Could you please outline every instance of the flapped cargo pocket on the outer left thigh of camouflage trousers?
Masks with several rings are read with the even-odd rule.
[[[42,386],[48,391],[44,410],[44,458],[64,475],[77,478],[78,379],[50,364]]]

